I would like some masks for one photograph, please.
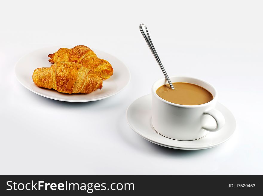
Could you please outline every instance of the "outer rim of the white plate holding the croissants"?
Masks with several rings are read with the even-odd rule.
[[[127,84],[126,84],[122,89],[120,89],[120,90],[117,91],[117,92],[114,92],[113,94],[110,94],[110,95],[107,95],[107,96],[104,96],[104,97],[101,97],[101,98],[94,98],[94,99],[89,99],[89,100],[68,100],[68,99],[60,99],[60,98],[50,97],[50,96],[48,96],[48,95],[43,95],[43,94],[41,94],[41,93],[39,93],[39,92],[36,92],[36,91],[30,89],[29,87],[27,87],[26,85],[24,85],[24,84],[19,80],[19,78],[18,78],[18,76],[17,76],[17,66],[18,66],[17,64],[19,63],[19,61],[20,61],[21,59],[23,59],[23,58],[24,58],[25,56],[27,56],[28,54],[33,53],[33,52],[35,52],[35,51],[37,51],[37,50],[43,50],[43,49],[45,49],[45,48],[50,48],[50,47],[59,47],[59,48],[61,48],[61,47],[71,47],[71,46],[70,46],[70,45],[48,46],[48,47],[42,47],[42,48],[39,48],[39,49],[36,49],[36,50],[32,50],[31,52],[28,52],[27,54],[25,54],[25,55],[23,55],[21,58],[19,58],[19,60],[16,62],[15,66],[14,66],[15,76],[16,76],[16,79],[19,81],[19,83],[22,84],[23,87],[25,87],[26,89],[30,90],[31,92],[33,92],[33,93],[35,93],[35,94],[37,94],[37,95],[40,95],[40,96],[45,97],[45,98],[49,98],[49,99],[53,99],[53,100],[57,100],[57,101],[65,101],[65,102],[90,102],[90,101],[98,101],[98,100],[106,99],[106,98],[108,98],[108,97],[111,97],[111,96],[113,96],[113,95],[118,94],[118,93],[121,92],[123,89],[125,89],[125,88],[127,87],[127,85],[128,85],[128,84],[130,83],[130,81],[131,81],[131,72],[130,72],[129,68],[123,63],[123,61],[121,61],[119,58],[117,58],[116,56],[114,56],[114,55],[112,55],[112,54],[110,54],[110,53],[104,52],[103,50],[98,50],[98,49],[96,49],[96,48],[92,48],[92,50],[97,50],[97,51],[100,51],[100,52],[103,52],[103,53],[106,53],[106,54],[108,54],[108,55],[113,56],[114,58],[118,59],[118,60],[123,64],[123,66],[127,69],[128,73],[129,73],[129,80],[128,80]]]

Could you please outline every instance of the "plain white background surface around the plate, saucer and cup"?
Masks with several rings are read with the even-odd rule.
[[[0,174],[263,174],[263,6],[261,1],[4,1],[0,11]],[[150,143],[126,108],[162,72],[139,25],[145,23],[169,75],[204,79],[236,117],[235,135],[205,150]],[[55,101],[15,78],[23,55],[87,45],[131,72],[130,84],[90,103]]]

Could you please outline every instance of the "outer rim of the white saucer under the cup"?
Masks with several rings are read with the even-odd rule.
[[[140,135],[142,138],[146,139],[146,140],[149,141],[149,142],[155,143],[155,144],[160,145],[160,146],[168,147],[168,148],[173,148],[173,149],[180,149],[180,150],[201,150],[201,149],[212,148],[212,147],[218,146],[218,145],[226,142],[227,140],[229,140],[230,138],[232,138],[232,136],[233,136],[233,135],[235,134],[235,132],[236,132],[236,118],[235,118],[235,116],[232,114],[232,112],[231,112],[227,107],[225,107],[223,104],[217,102],[218,104],[220,104],[220,105],[222,105],[223,107],[225,107],[225,108],[232,114],[232,116],[233,116],[233,118],[234,118],[234,122],[235,122],[235,129],[233,130],[233,133],[232,133],[228,138],[226,138],[225,140],[223,140],[223,141],[221,141],[221,142],[218,142],[218,143],[215,143],[215,144],[212,144],[212,145],[199,146],[199,147],[196,148],[196,147],[189,147],[189,146],[183,146],[183,145],[176,146],[176,144],[170,146],[170,145],[166,145],[165,143],[156,141],[155,139],[146,137],[145,135],[141,134],[141,133],[138,132],[136,129],[134,129],[134,128],[132,127],[132,125],[129,123],[129,120],[128,120],[128,110],[129,110],[129,108],[131,107],[131,105],[132,105],[135,101],[137,101],[137,100],[140,99],[140,98],[143,98],[143,97],[146,97],[146,96],[150,96],[150,95],[151,95],[151,93],[150,93],[150,94],[147,94],[147,95],[143,95],[143,96],[135,99],[135,100],[127,107],[127,109],[126,109],[126,121],[127,121],[128,125],[130,126],[130,128],[131,128],[135,133],[137,133],[138,135]],[[149,126],[150,126],[150,123],[149,123]],[[152,129],[152,127],[151,127],[151,129]],[[153,131],[154,131],[154,130],[153,130]],[[156,133],[156,134],[157,134],[157,133]],[[167,139],[169,139],[169,138],[167,138]],[[170,140],[172,140],[172,139],[170,139]],[[178,140],[174,140],[174,141],[180,142],[180,141],[178,141]],[[181,141],[181,142],[184,142],[184,141]]]

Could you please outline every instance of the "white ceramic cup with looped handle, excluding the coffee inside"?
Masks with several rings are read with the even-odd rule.
[[[215,109],[218,94],[216,89],[206,81],[191,78],[172,76],[172,83],[187,82],[197,84],[212,93],[213,99],[200,105],[174,104],[160,98],[156,90],[168,84],[165,78],[152,85],[152,126],[161,135],[175,140],[195,140],[204,137],[208,132],[215,132],[224,126],[225,119],[221,112]],[[215,126],[207,126],[207,115],[215,119]],[[210,117],[211,118],[211,117]]]

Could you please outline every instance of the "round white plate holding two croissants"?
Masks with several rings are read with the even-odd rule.
[[[16,78],[18,81],[30,91],[47,97],[50,99],[56,99],[59,101],[71,101],[71,102],[85,102],[85,101],[96,101],[100,99],[108,98],[112,95],[120,92],[127,84],[129,84],[131,75],[128,68],[119,59],[105,53],[100,50],[92,49],[99,58],[103,58],[109,61],[113,67],[113,75],[103,81],[102,89],[97,89],[90,94],[67,94],[57,92],[54,89],[45,89],[37,87],[33,80],[33,71],[38,67],[50,67],[52,63],[48,61],[50,59],[48,54],[56,52],[59,48],[72,48],[74,46],[52,46],[46,47],[39,50],[35,50],[24,57],[22,57],[15,67]]]

